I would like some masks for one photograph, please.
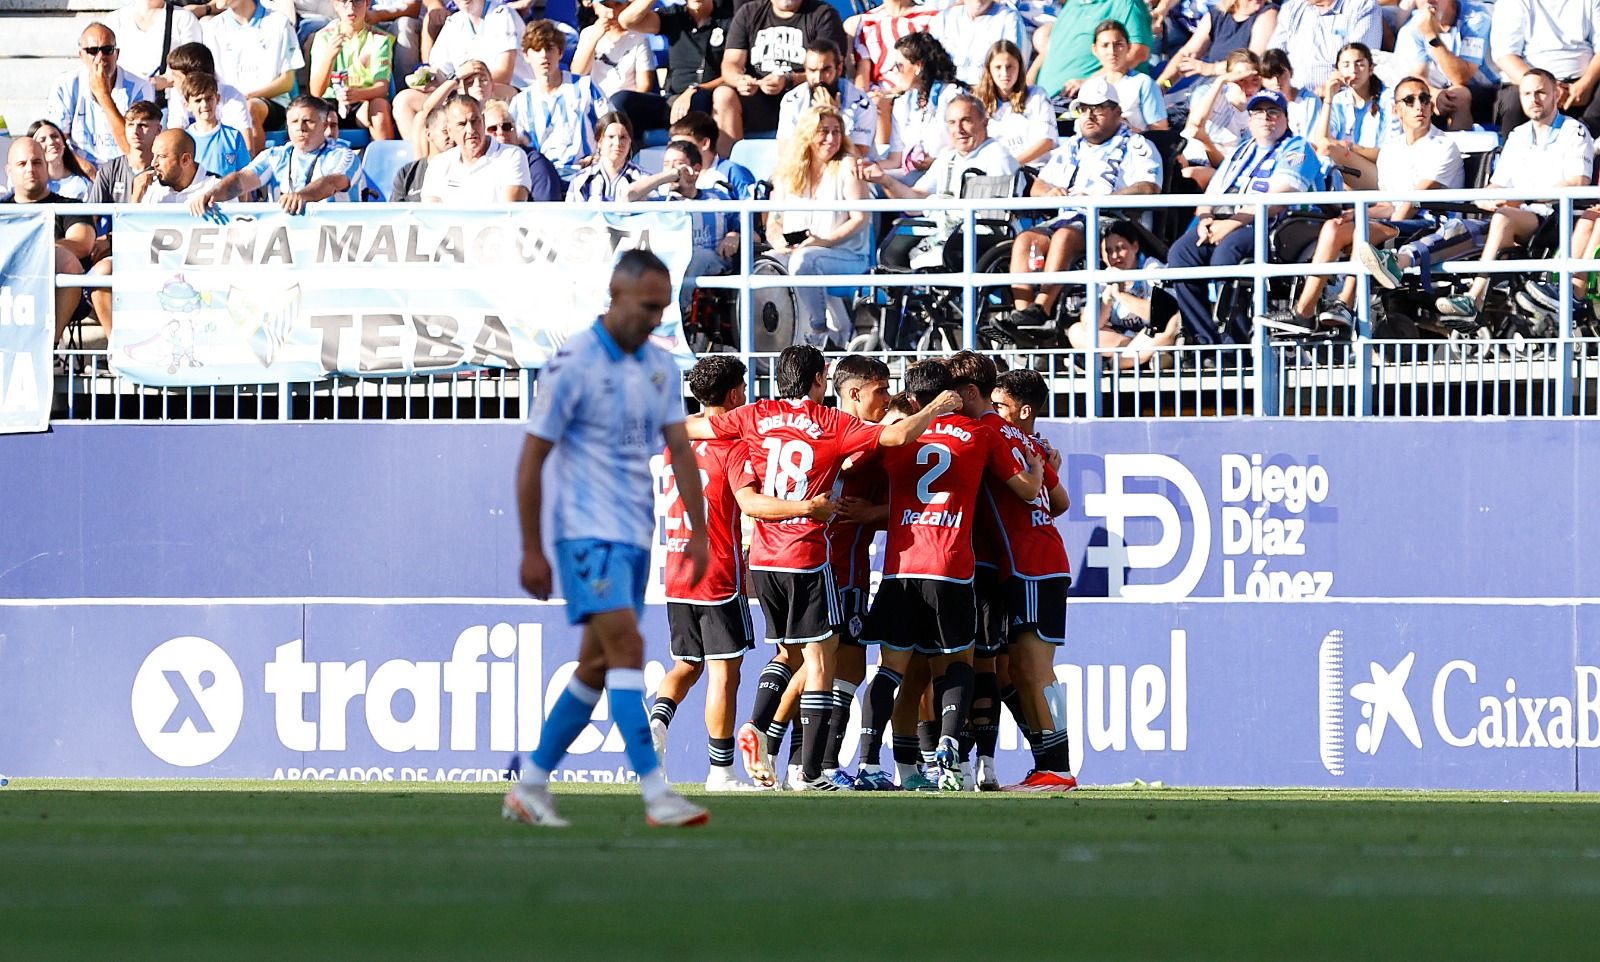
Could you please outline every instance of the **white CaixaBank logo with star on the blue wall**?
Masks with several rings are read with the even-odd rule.
[[[1342,629],[1317,647],[1317,752],[1330,775],[1379,752],[1573,748],[1600,748],[1600,667],[1576,666],[1566,691],[1531,691],[1467,658],[1435,667],[1413,647]]]

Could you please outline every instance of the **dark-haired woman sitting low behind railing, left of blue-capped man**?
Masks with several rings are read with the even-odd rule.
[[[1144,253],[1141,232],[1131,221],[1112,221],[1102,230],[1101,256],[1112,271],[1147,271],[1162,263]],[[1117,359],[1123,370],[1149,363],[1157,347],[1178,343],[1182,327],[1178,301],[1149,280],[1112,280],[1101,285],[1101,301],[1083,309],[1083,319],[1067,328],[1067,343],[1093,347],[1099,327],[1099,349]],[[1170,357],[1170,355],[1168,355]]]

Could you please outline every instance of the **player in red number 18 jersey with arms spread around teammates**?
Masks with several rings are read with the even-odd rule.
[[[778,355],[778,399],[757,400],[736,411],[690,423],[690,437],[742,439],[763,495],[806,501],[832,493],[834,480],[851,455],[906,445],[933,418],[960,407],[960,399],[949,392],[930,399],[920,415],[878,427],[822,405],[826,371],[827,363],[816,347],[787,347]],[[750,543],[750,576],[766,616],[766,640],[803,648],[803,749],[802,783],[797,788],[811,791],[838,791],[837,784],[822,778],[822,754],[834,714],[835,632],[840,623],[826,531],[827,525],[805,517],[757,522]],[[758,748],[758,730],[744,725],[739,752],[746,767],[757,783],[771,783],[774,776]]]

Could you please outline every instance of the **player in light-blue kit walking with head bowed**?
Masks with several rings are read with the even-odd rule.
[[[672,303],[672,277],[650,251],[627,251],[611,274],[611,306],[570,339],[539,371],[538,397],[517,467],[522,517],[522,586],[550,595],[541,511],[550,491],[555,563],[566,615],[584,626],[578,671],[550,707],[533,765],[509,792],[501,815],[565,828],[550,797],[550,772],[589,724],[602,685],[611,719],[638,773],[645,821],[706,824],[710,815],[667,786],[645,714],[645,639],[638,615],[656,530],[650,459],[666,439],[691,535],[685,549],[694,578],[706,573],[706,506],[694,451],[683,429],[683,386],[672,355],[650,333]],[[554,451],[554,458],[552,458]],[[546,461],[550,463],[546,479]],[[546,487],[546,480],[549,485]]]

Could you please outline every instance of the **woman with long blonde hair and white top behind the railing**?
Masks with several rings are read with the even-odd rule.
[[[773,171],[773,200],[866,200],[856,176],[854,149],[845,117],[832,106],[800,115]],[[781,210],[766,221],[766,242],[792,275],[864,274],[872,266],[867,213],[859,210]],[[851,320],[826,288],[795,288],[797,333],[821,347],[850,339]]]

